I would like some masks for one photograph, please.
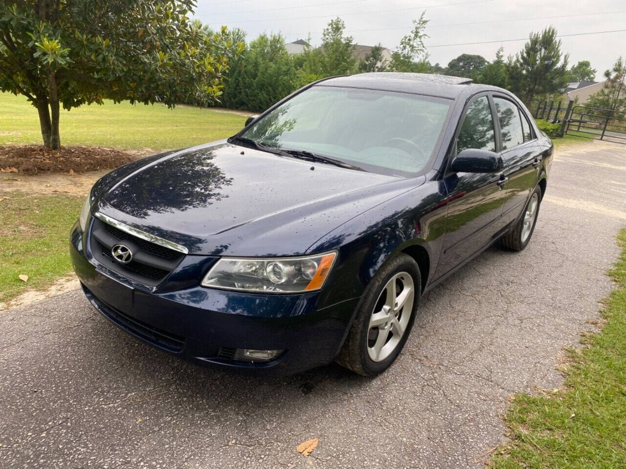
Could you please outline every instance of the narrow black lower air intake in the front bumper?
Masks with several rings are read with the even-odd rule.
[[[128,316],[119,310],[116,310],[112,306],[107,305],[99,298],[96,298],[85,285],[81,284],[81,286],[83,287],[83,291],[85,291],[85,295],[87,295],[87,298],[91,301],[91,303],[94,303],[103,315],[105,315],[107,318],[109,318],[111,321],[116,323],[124,330],[140,337],[147,342],[150,342],[153,345],[165,348],[166,350],[173,352],[180,352],[183,350],[185,346],[184,337],[156,328],[140,320],[136,320],[135,318],[132,318],[131,316]]]

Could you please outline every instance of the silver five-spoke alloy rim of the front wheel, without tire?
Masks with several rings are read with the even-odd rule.
[[[394,275],[374,305],[367,330],[367,354],[372,361],[387,358],[404,336],[411,319],[415,287],[406,272]]]

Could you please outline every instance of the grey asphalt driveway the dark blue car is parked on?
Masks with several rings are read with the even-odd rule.
[[[461,468],[502,441],[508,396],[555,388],[593,328],[626,224],[626,145],[560,149],[523,253],[491,248],[429,293],[373,380],[198,368],[71,291],[0,311],[2,468]],[[319,438],[308,458],[295,451]]]

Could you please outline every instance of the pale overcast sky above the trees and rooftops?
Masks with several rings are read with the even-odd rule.
[[[429,19],[424,41],[431,63],[446,66],[462,53],[493,60],[503,46],[505,56],[515,54],[530,31],[553,24],[558,34],[626,29],[626,0],[197,0],[196,16],[217,28],[222,24],[260,33],[280,32],[289,43],[306,39],[319,45],[322,29],[336,16],[346,23],[357,44],[394,49],[423,10]],[[575,15],[575,16],[573,16]],[[552,17],[552,18],[546,18]],[[506,20],[506,21],[505,21]],[[489,23],[485,23],[489,22]],[[474,24],[467,24],[474,23]],[[626,31],[560,38],[570,64],[589,60],[602,77],[620,55],[626,57]],[[490,44],[442,46],[496,41]]]

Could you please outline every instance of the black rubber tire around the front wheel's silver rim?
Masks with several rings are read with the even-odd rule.
[[[382,298],[382,294],[386,292],[387,283],[397,275],[409,274],[413,280],[413,305],[410,311],[404,311],[404,307],[400,308],[400,311],[396,315],[396,319],[400,321],[406,321],[404,314],[408,313],[408,322],[404,328],[403,334],[399,338],[399,341],[393,351],[389,353],[384,360],[374,361],[369,356],[368,343],[371,343],[369,321],[372,316],[374,308],[379,304]],[[406,276],[404,276],[406,278]],[[408,279],[406,279],[408,280]],[[403,289],[402,279],[398,279],[399,283],[394,281],[394,285],[398,288],[398,285]],[[399,290],[399,295],[403,290]],[[386,296],[386,294],[385,294]],[[418,310],[419,299],[421,296],[421,276],[419,274],[419,267],[417,263],[406,254],[399,254],[393,259],[387,261],[381,269],[374,275],[374,278],[367,285],[366,291],[357,306],[357,311],[352,321],[352,326],[347,335],[346,342],[344,343],[339,356],[336,361],[339,365],[348,368],[349,370],[359,373],[363,376],[376,376],[382,371],[386,370],[396,360],[400,351],[404,348],[404,344],[409,338],[413,322],[415,320],[416,311]],[[386,297],[387,298],[387,297]],[[400,296],[398,296],[400,298]],[[401,319],[404,318],[404,319]],[[398,322],[399,324],[399,322]],[[372,331],[376,331],[376,335],[379,333],[376,329],[372,328]],[[389,332],[389,338],[387,342],[395,337],[393,327]],[[396,339],[397,340],[397,339]],[[390,345],[391,347],[391,345]]]

